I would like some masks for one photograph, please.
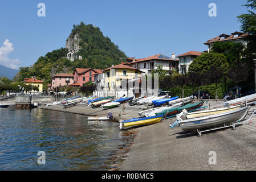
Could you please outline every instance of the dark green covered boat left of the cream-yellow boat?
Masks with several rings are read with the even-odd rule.
[[[173,107],[171,109],[165,109],[161,111],[160,113],[156,113],[156,115],[164,115],[162,119],[171,118],[176,116],[178,113],[180,113],[183,109],[186,109],[187,111],[191,111],[194,109],[200,108],[204,104],[204,101],[197,102],[194,104],[187,104],[182,107]]]

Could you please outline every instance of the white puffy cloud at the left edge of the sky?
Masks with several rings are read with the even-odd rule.
[[[9,53],[13,51],[13,44],[8,39],[6,39],[5,42],[3,42],[3,46],[0,47],[0,64],[7,68],[18,69],[19,65],[21,65],[21,60],[11,60],[8,57]]]

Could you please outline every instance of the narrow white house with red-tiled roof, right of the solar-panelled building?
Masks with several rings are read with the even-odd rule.
[[[202,52],[198,51],[189,51],[186,53],[182,53],[177,57],[180,59],[180,64],[178,65],[178,72],[180,74],[185,74],[188,72],[189,65],[192,63],[194,59],[201,55]]]

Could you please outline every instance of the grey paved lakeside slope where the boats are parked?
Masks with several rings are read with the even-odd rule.
[[[208,101],[204,106],[213,109],[223,106],[223,101]],[[60,105],[40,107],[68,113],[106,116],[108,111],[115,119],[137,118],[140,106],[125,104],[125,116],[121,106],[112,109],[92,109],[86,105],[78,105],[63,109]],[[252,106],[251,109],[256,109]],[[197,137],[196,133],[182,131],[180,127],[169,128],[172,119],[160,123],[130,129],[134,134],[131,146],[120,162],[112,164],[113,170],[255,170],[256,158],[256,121],[237,125],[236,130],[210,131]],[[108,121],[107,121],[108,122]],[[116,127],[119,123],[116,123]],[[124,130],[121,132],[127,132]],[[212,154],[216,154],[216,164],[211,164]]]

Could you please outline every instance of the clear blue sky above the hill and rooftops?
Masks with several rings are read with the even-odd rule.
[[[45,17],[37,15],[41,2],[46,5]],[[216,17],[208,15],[209,3],[216,3]],[[246,0],[3,0],[0,64],[10,68],[34,64],[47,52],[65,47],[73,24],[81,21],[99,27],[128,57],[205,51],[204,42],[210,38],[240,31],[237,16],[246,13],[241,6],[245,3]]]

